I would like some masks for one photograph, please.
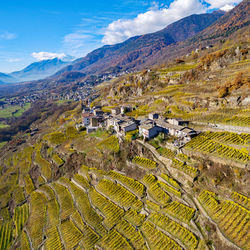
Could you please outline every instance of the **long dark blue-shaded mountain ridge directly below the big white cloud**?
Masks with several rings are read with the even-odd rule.
[[[153,54],[171,44],[190,38],[207,28],[223,15],[221,12],[191,15],[155,33],[132,37],[123,43],[106,45],[63,68],[56,75],[67,71],[86,74],[138,68]]]

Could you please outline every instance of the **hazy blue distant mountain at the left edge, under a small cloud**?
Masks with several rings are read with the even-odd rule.
[[[1,82],[6,84],[43,79],[55,74],[69,63],[58,58],[34,62],[20,71],[10,74],[0,73],[0,84]]]

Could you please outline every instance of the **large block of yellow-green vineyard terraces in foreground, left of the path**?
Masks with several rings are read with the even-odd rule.
[[[93,173],[98,173],[97,183],[92,183]],[[186,222],[193,217],[191,208],[171,201],[181,198],[178,192],[152,174],[140,181],[83,166],[70,179],[30,189],[28,202],[15,208],[13,220],[1,224],[1,249],[14,239],[27,249],[194,249],[199,237],[167,216]]]

